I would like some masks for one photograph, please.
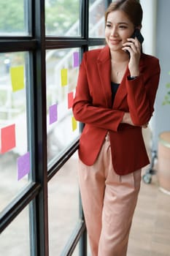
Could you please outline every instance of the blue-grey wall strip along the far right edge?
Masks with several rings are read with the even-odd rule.
[[[161,80],[155,102],[155,146],[158,135],[170,130],[170,105],[163,106],[163,98],[166,94],[166,83],[170,82],[170,1],[158,0],[157,33],[156,33],[156,56],[160,59]]]

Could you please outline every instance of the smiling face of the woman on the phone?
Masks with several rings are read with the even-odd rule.
[[[125,12],[116,10],[109,12],[105,28],[105,38],[110,50],[122,50],[123,43],[134,33],[134,24]]]

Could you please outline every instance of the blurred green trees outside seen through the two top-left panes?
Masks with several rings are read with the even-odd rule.
[[[26,30],[25,19],[28,17],[24,13],[28,10],[26,0],[1,0],[0,10],[1,34]],[[46,34],[64,35],[79,19],[79,15],[79,0],[45,0]]]

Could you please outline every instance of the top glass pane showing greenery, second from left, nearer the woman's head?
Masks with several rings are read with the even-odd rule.
[[[47,36],[80,36],[80,0],[45,0]]]

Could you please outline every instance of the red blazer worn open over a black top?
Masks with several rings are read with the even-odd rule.
[[[73,113],[77,121],[85,123],[79,146],[79,157],[85,165],[93,165],[107,132],[117,174],[125,175],[149,164],[141,126],[150,121],[154,110],[159,61],[142,53],[139,69],[140,75],[134,80],[127,79],[130,72],[126,69],[112,105],[109,47],[84,53]],[[120,123],[125,112],[131,113],[136,126]]]

